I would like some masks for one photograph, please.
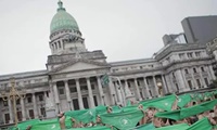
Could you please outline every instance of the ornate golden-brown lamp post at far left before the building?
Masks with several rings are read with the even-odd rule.
[[[11,78],[11,88],[9,92],[1,92],[1,98],[3,101],[11,100],[13,102],[13,112],[14,112],[14,119],[15,119],[15,126],[17,126],[17,113],[16,113],[16,101],[18,99],[24,99],[26,95],[24,90],[17,90],[15,89],[15,80],[14,78]]]

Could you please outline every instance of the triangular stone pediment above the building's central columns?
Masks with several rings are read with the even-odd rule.
[[[90,60],[73,60],[66,64],[63,64],[50,73],[68,73],[68,72],[79,72],[79,70],[90,70],[97,68],[110,67],[106,63],[94,62]]]

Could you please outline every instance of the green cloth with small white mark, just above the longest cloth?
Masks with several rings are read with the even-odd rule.
[[[142,104],[144,108],[156,107],[156,108],[170,112],[175,101],[176,101],[176,95],[173,94],[173,95],[157,98],[150,101],[142,101],[140,102],[140,104]]]

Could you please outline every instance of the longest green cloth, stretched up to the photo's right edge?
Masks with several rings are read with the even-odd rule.
[[[214,108],[214,106],[217,105],[217,100],[204,102],[202,104],[188,107],[188,108],[182,108],[182,109],[177,109],[173,112],[163,112],[163,113],[157,113],[155,114],[156,117],[161,118],[169,118],[169,119],[175,119],[175,120],[180,120],[193,115],[197,115],[200,113],[210,110]]]

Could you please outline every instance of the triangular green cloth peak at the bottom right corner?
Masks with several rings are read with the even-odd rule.
[[[190,126],[187,130],[212,130],[212,125],[207,118],[203,118],[192,126]]]

